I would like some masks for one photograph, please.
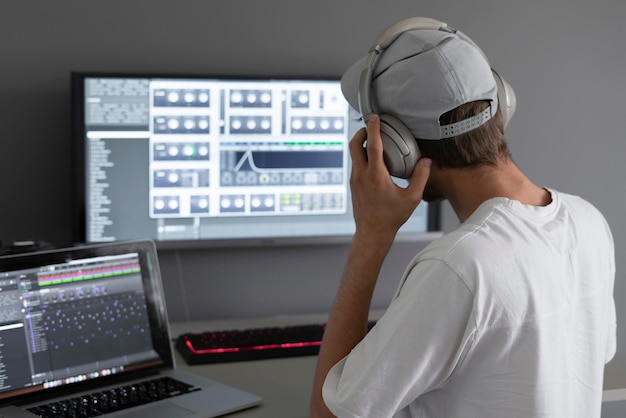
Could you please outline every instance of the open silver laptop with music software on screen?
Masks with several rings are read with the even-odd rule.
[[[151,240],[0,257],[0,417],[209,418],[260,403],[176,369]]]

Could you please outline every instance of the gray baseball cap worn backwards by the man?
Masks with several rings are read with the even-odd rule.
[[[360,110],[360,78],[368,56],[346,70],[341,88],[350,106]],[[414,29],[386,46],[373,68],[370,107],[400,119],[420,139],[438,140],[470,131],[498,109],[498,86],[476,44],[460,32]],[[442,114],[478,101],[491,106],[481,115],[441,126]]]

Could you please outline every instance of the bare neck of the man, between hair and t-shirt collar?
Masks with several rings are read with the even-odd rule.
[[[444,196],[461,222],[465,221],[483,202],[494,197],[506,197],[526,205],[546,206],[550,193],[532,183],[508,158],[496,166],[462,169],[441,169]]]

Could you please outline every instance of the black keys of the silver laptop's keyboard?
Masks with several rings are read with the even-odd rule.
[[[161,399],[195,392],[200,388],[171,377],[160,377],[75,398],[28,408],[42,418],[89,418]]]

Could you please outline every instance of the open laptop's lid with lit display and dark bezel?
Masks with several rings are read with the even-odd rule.
[[[153,245],[0,258],[0,399],[171,366]]]

